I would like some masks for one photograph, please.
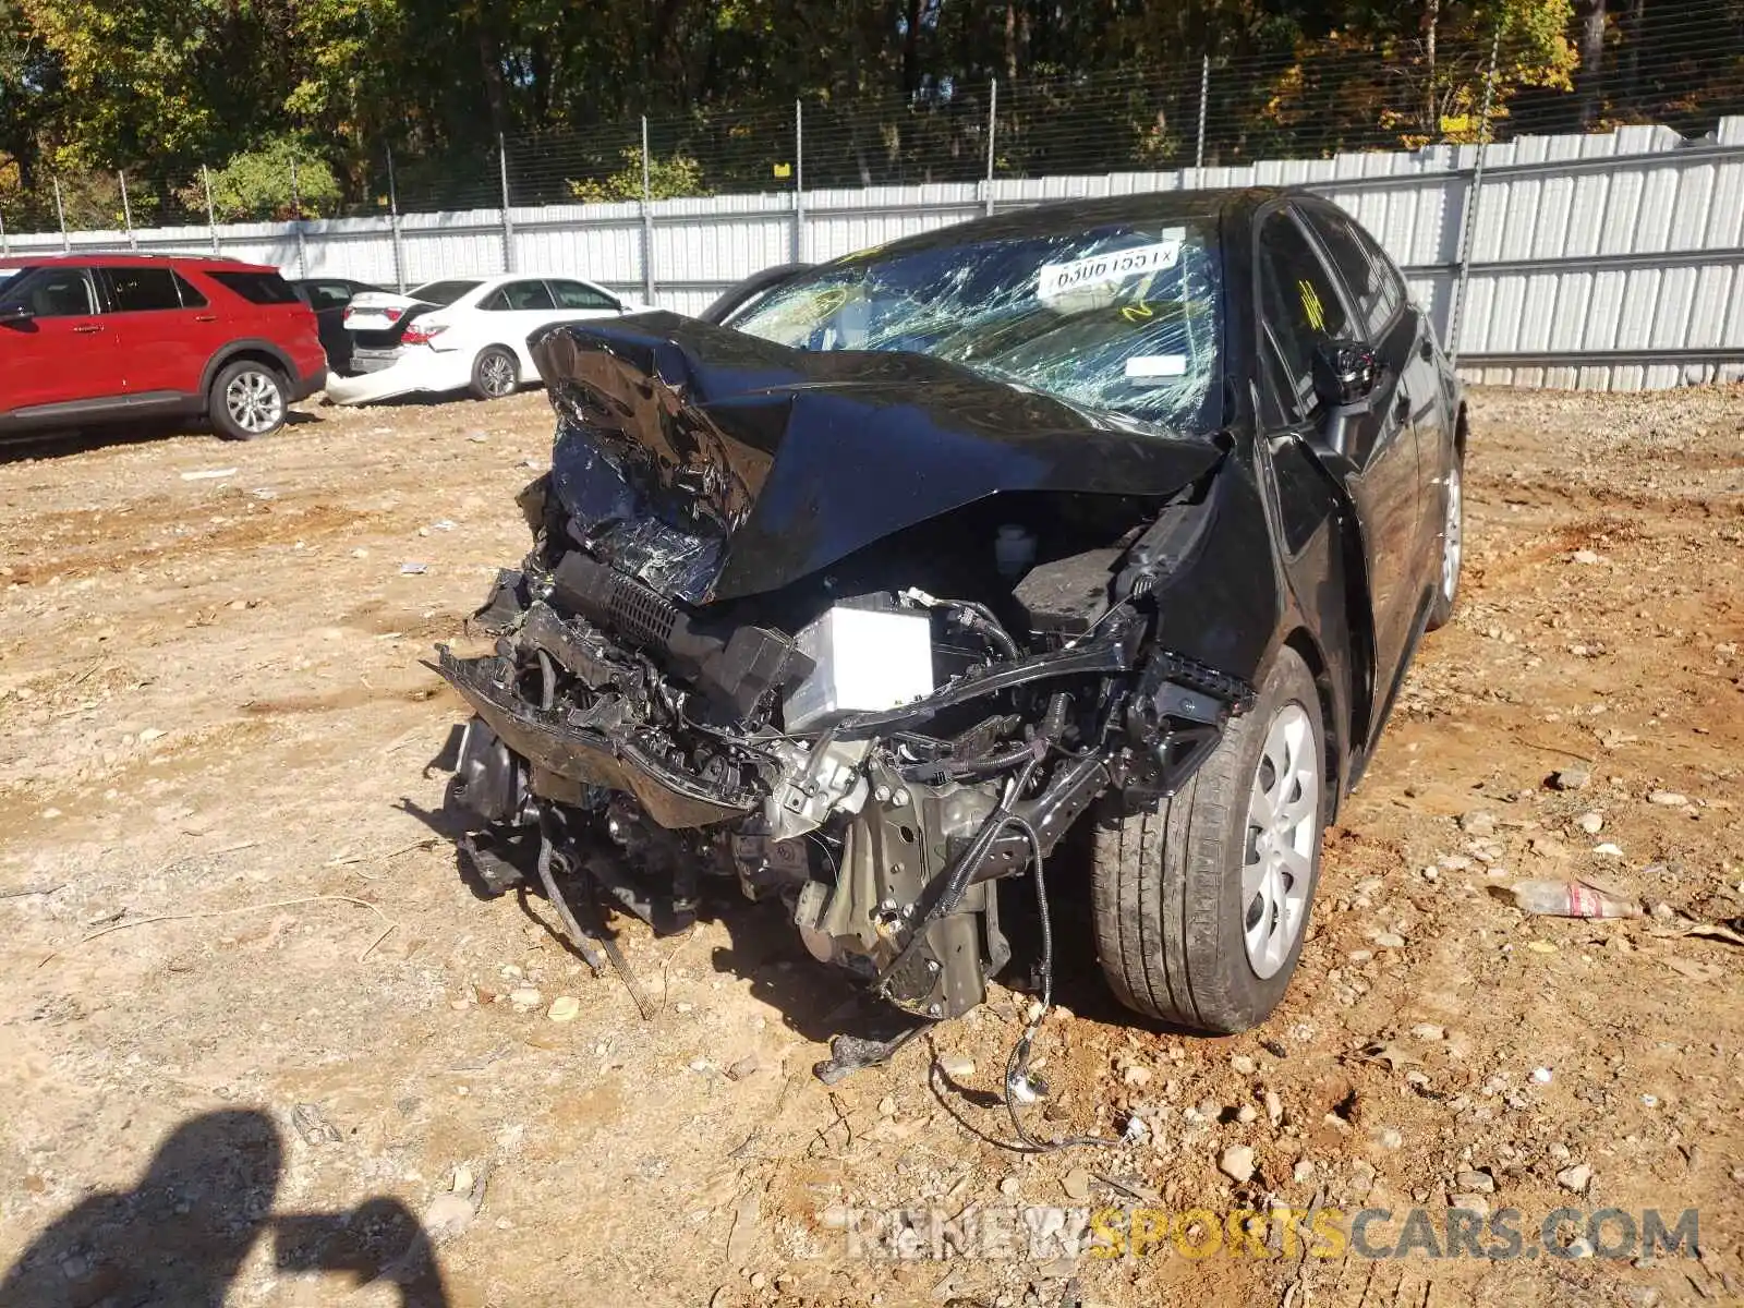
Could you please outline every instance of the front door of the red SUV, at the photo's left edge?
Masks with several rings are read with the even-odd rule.
[[[7,277],[0,309],[14,305],[28,316],[0,323],[0,412],[122,394],[120,352],[89,269],[26,269]]]

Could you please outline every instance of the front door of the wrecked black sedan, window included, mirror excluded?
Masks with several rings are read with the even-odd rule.
[[[1313,445],[1327,419],[1313,385],[1315,351],[1364,340],[1369,323],[1289,206],[1263,213],[1257,239],[1263,394],[1271,408],[1266,426]],[[1374,612],[1374,694],[1385,698],[1404,666],[1418,607],[1413,551],[1420,509],[1416,434],[1400,384],[1406,347],[1388,335],[1378,349],[1383,368],[1367,412],[1346,422],[1343,455],[1320,450],[1320,457],[1357,506]],[[1371,726],[1380,726],[1380,715]]]

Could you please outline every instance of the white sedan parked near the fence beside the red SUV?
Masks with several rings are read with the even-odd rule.
[[[548,323],[642,309],[591,281],[527,272],[434,281],[410,295],[366,291],[345,309],[359,375],[328,373],[328,399],[368,405],[417,391],[462,389],[495,399],[539,380],[527,351],[530,333]]]

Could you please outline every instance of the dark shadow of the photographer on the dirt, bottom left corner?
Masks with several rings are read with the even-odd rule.
[[[406,1308],[446,1308],[419,1219],[377,1196],[349,1212],[274,1216],[284,1142],[255,1109],[202,1113],[159,1146],[138,1186],[56,1219],[0,1280],[0,1305],[223,1305],[262,1235],[279,1271],[392,1284]]]

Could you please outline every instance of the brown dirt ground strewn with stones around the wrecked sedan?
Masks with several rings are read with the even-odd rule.
[[[7,450],[0,1299],[1737,1301],[1744,950],[1688,928],[1744,914],[1744,392],[1477,392],[1472,426],[1461,610],[1327,839],[1273,1020],[1123,1022],[1083,869],[1055,863],[1069,1012],[1032,1125],[1141,1125],[1045,1156],[998,1144],[1020,994],[937,1032],[973,1059],[956,1083],[916,1043],[830,1090],[811,1066],[849,992],[776,910],[720,900],[682,938],[619,919],[644,1022],[542,900],[457,875],[427,764],[462,710],[424,659],[525,551],[542,396]],[[1655,914],[1489,893],[1536,875]],[[1392,1210],[1381,1250],[1414,1207],[1442,1249],[1451,1202],[1517,1209],[1524,1249],[1219,1247],[1230,1209],[1315,1202]],[[982,1256],[879,1257],[855,1212],[1029,1205],[1210,1212],[1118,1259],[999,1257],[996,1216]],[[1697,1209],[1699,1240],[1533,1257],[1564,1205]]]

